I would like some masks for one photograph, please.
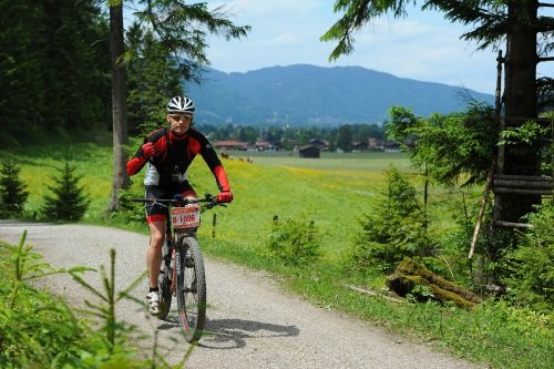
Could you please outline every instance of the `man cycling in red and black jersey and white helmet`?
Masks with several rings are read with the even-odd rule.
[[[136,154],[127,162],[129,175],[138,173],[147,164],[144,188],[147,198],[173,198],[175,195],[196,198],[187,181],[186,172],[197,154],[201,154],[216,178],[219,194],[217,201],[230,203],[233,193],[222,162],[208,140],[191,129],[196,107],[184,95],[167,103],[167,127],[156,130],[144,139]],[[150,227],[150,246],[146,250],[150,290],[146,295],[148,311],[160,311],[157,275],[162,265],[162,246],[166,234],[167,208],[157,204],[146,206]]]

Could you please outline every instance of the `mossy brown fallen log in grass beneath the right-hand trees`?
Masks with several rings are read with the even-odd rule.
[[[427,286],[432,293],[428,299],[441,304],[451,301],[461,308],[471,308],[481,303],[475,294],[448,281],[410,258],[403,259],[394,274],[387,278],[387,286],[402,297],[411,294],[417,286]]]

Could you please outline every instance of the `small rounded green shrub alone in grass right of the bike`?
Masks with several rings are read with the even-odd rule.
[[[321,234],[306,218],[275,221],[268,248],[269,255],[285,265],[310,265],[321,256]]]

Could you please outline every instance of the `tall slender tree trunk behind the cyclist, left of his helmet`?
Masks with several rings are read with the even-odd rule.
[[[125,85],[125,45],[123,42],[123,0],[110,4],[110,58],[112,64],[112,121],[113,121],[113,182],[112,196],[107,212],[120,207],[119,193],[129,187],[125,168],[124,146],[129,143],[126,85]]]

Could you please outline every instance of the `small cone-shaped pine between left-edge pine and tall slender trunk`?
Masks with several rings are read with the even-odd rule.
[[[75,175],[75,167],[65,161],[59,177],[53,177],[54,185],[48,186],[51,195],[44,196],[42,214],[45,218],[53,221],[80,221],[89,207],[89,196],[84,194],[84,187],[80,187],[81,176]]]

